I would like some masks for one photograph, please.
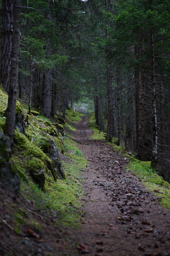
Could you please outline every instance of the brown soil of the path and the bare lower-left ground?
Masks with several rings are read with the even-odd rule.
[[[9,214],[2,203],[17,201],[18,207],[22,205],[43,217],[44,230],[41,241],[28,236],[26,227],[25,235],[19,237],[9,226],[1,225],[0,255],[170,255],[169,209],[160,206],[159,198],[147,191],[135,173],[125,170],[127,159],[104,140],[91,139],[87,123],[85,116],[74,132],[75,141],[89,161],[88,171],[82,173],[86,191],[82,198],[82,229],[51,226],[52,216],[36,212],[24,198],[16,198],[1,185],[1,220]]]

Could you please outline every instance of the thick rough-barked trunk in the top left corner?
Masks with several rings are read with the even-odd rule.
[[[2,0],[0,80],[6,92],[10,84],[10,61],[12,51],[13,0]]]

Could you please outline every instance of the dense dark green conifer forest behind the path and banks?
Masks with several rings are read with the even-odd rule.
[[[1,7],[0,78],[9,92],[13,0]],[[170,181],[170,2],[28,0],[20,10],[16,97],[28,114],[95,111],[107,140]]]

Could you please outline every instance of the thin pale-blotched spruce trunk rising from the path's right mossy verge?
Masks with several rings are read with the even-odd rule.
[[[154,39],[153,27],[151,28],[151,68],[152,68],[152,119],[153,119],[153,149],[151,167],[155,168],[157,164],[157,112],[156,112],[156,90],[155,90],[155,59],[154,59]]]

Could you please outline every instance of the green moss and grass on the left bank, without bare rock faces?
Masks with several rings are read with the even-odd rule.
[[[5,117],[4,111],[7,107],[7,95],[0,90],[1,101],[0,101],[0,126],[4,128]],[[19,102],[17,102],[19,105]],[[23,104],[21,106],[23,113],[27,114],[28,106]],[[36,109],[33,109],[36,110]],[[75,124],[81,120],[82,114],[73,111],[72,109],[67,110],[67,119]],[[29,125],[26,128],[26,135],[22,135],[19,132],[15,132],[15,147],[12,151],[12,158],[16,164],[16,167],[21,176],[21,192],[27,198],[29,202],[34,201],[35,206],[44,212],[44,214],[53,214],[58,211],[57,223],[63,223],[64,225],[77,226],[79,223],[77,219],[82,214],[79,211],[81,206],[82,186],[83,182],[81,178],[81,170],[86,169],[88,165],[87,160],[83,157],[82,152],[77,147],[76,143],[72,140],[61,137],[61,134],[56,135],[55,127],[49,127],[45,125],[45,122],[53,123],[42,114],[39,116],[29,116]],[[75,128],[70,124],[66,123],[70,130]],[[46,161],[50,162],[48,154],[44,154],[42,151],[43,143],[48,141],[48,135],[43,133],[52,133],[52,138],[55,140],[59,151],[64,152],[64,159],[62,161],[65,179],[56,181],[53,179],[50,170],[46,167]],[[40,134],[38,134],[40,132]],[[37,135],[38,134],[38,135]],[[37,136],[36,136],[37,135]],[[31,143],[32,138],[34,141]],[[38,168],[45,169],[46,182],[43,192],[38,184],[34,182],[32,177],[29,175],[28,167],[32,167],[34,170]],[[15,207],[14,207],[14,216]],[[38,225],[38,224],[37,224]],[[21,226],[19,221],[15,223],[15,230],[19,234]]]

